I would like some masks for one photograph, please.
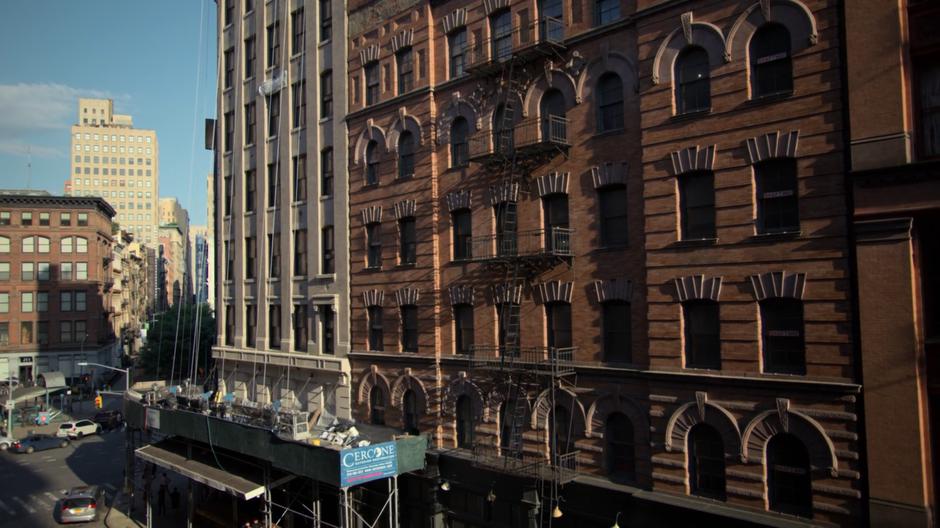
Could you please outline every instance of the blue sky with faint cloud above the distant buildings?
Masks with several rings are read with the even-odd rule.
[[[206,223],[213,0],[0,1],[0,188],[62,194],[79,97],[114,100],[160,145],[160,196]],[[194,134],[195,132],[195,134]],[[27,150],[32,170],[27,168]],[[31,173],[31,177],[30,177]]]

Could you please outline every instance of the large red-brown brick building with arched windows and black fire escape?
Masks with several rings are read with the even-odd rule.
[[[859,522],[841,20],[349,4],[353,414],[437,448],[403,522]]]

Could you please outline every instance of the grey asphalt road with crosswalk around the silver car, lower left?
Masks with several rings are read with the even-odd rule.
[[[115,430],[73,441],[64,449],[31,455],[0,453],[0,528],[59,526],[53,518],[62,491],[83,484],[104,486],[108,504],[121,486],[124,433]],[[104,526],[107,508],[96,523]]]

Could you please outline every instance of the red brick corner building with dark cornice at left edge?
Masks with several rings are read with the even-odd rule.
[[[113,217],[101,198],[0,195],[0,377],[112,364]]]

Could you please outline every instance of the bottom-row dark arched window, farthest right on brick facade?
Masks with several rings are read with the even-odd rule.
[[[791,434],[777,434],[767,442],[767,496],[773,511],[813,516],[809,453]]]

